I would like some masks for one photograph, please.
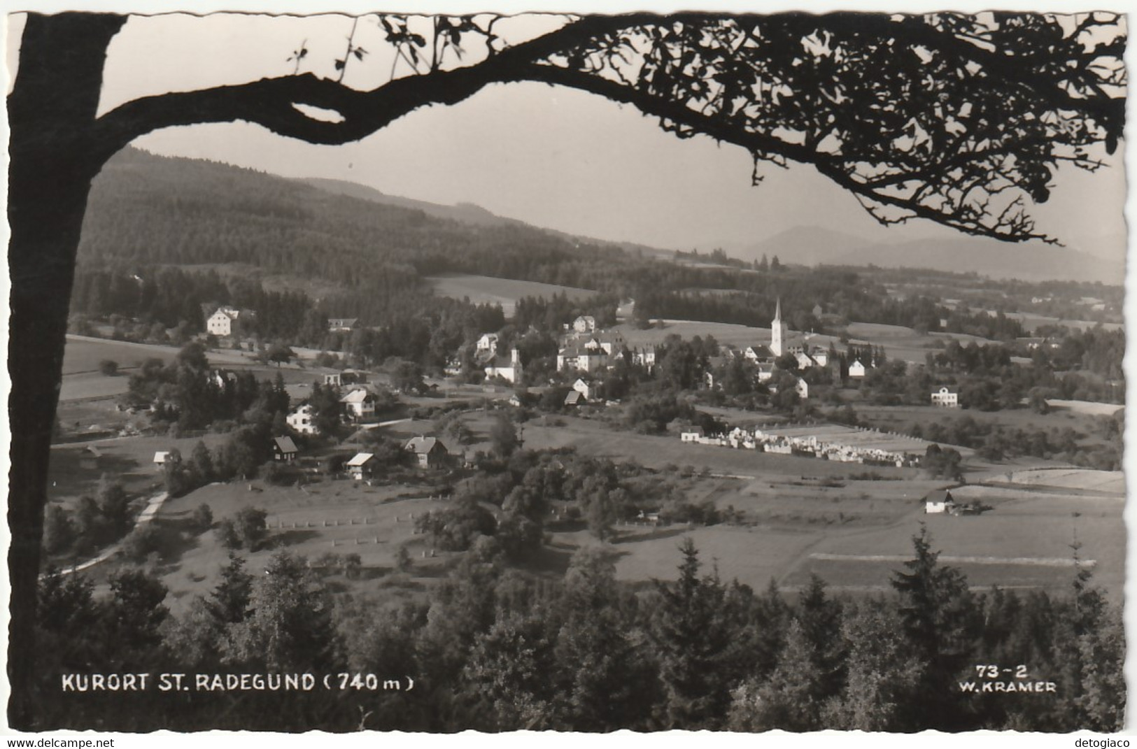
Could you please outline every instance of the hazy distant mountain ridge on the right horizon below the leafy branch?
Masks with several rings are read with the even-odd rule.
[[[778,256],[781,263],[930,268],[974,272],[993,278],[1022,281],[1101,281],[1120,285],[1124,265],[1043,242],[1010,243],[960,235],[953,239],[870,242],[853,234],[816,226],[796,226],[732,255],[746,260]]]

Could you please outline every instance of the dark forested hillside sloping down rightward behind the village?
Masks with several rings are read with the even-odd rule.
[[[441,302],[424,277],[470,273],[592,289],[608,299],[633,298],[641,322],[664,317],[764,326],[781,298],[795,330],[821,330],[814,314],[821,305],[827,315],[845,321],[985,338],[1023,335],[1014,321],[953,313],[938,293],[890,296],[874,268],[811,269],[779,264],[777,256],[769,266],[755,263],[753,268],[738,267],[746,265],[739,261],[677,263],[521,222],[455,220],[441,217],[446,211],[429,215],[364,199],[365,189],[358,194],[223,164],[124,150],[91,192],[72,310],[117,313],[167,326],[184,321],[191,331],[200,331],[201,306],[244,305],[264,315],[272,311],[260,309],[267,305],[280,313],[275,318],[291,322],[265,333],[296,336],[309,309],[314,328],[319,327],[315,315],[357,317],[368,326],[434,315]],[[683,253],[688,256],[700,258]],[[706,257],[725,258],[721,250]],[[333,291],[318,298],[273,298],[244,277],[239,278],[241,289],[224,278],[161,278],[169,266],[193,275],[224,266],[254,267],[291,278],[293,292],[313,282]],[[903,273],[920,275],[891,272],[890,277]],[[984,283],[952,274],[937,278],[949,286]],[[176,299],[158,291],[169,283],[182,289]],[[1016,289],[1028,299],[1032,293],[1029,284]],[[1037,289],[1040,293],[1043,288]],[[1084,284],[1080,293],[1112,299],[1101,285]]]

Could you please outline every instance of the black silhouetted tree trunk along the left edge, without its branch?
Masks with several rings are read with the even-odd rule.
[[[91,178],[110,153],[90,142],[107,43],[125,18],[30,16],[8,100],[11,277],[8,372],[13,434],[8,489],[11,580],[10,725],[33,727],[35,583],[51,425],[63,375],[70,297]]]

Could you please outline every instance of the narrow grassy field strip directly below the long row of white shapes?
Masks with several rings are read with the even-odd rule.
[[[563,426],[545,425],[541,419],[528,422],[524,428],[525,447],[575,447],[584,455],[603,456],[613,460],[633,459],[641,465],[659,468],[665,465],[704,466],[712,473],[757,477],[763,474],[846,476],[870,469],[858,464],[840,464],[816,458],[773,455],[757,450],[735,450],[729,447],[680,442],[673,435],[636,434],[615,431],[605,424],[584,418],[563,417]],[[914,477],[913,468],[871,467],[878,474],[894,477]]]

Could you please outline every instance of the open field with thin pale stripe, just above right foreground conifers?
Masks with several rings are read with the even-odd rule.
[[[874,485],[886,488],[891,483]],[[941,551],[941,563],[960,567],[974,589],[1068,589],[1074,568],[1070,543],[1077,532],[1082,543],[1080,559],[1093,569],[1095,583],[1111,597],[1120,598],[1126,546],[1121,496],[1020,492],[1018,498],[1007,499],[999,489],[973,486],[960,499],[970,501],[976,497],[982,497],[995,509],[981,516],[929,516],[919,502],[896,501],[888,516],[875,518],[868,527],[779,523],[750,527],[620,526],[622,538],[615,544],[621,552],[617,575],[632,581],[675,579],[678,547],[689,535],[704,561],[717,563],[724,580],[737,577],[752,588],[764,588],[773,579],[786,590],[797,590],[808,583],[811,573],[816,573],[835,592],[887,591],[893,573],[903,571],[904,560],[912,557],[912,536],[926,523],[933,548]],[[889,504],[880,497],[872,501]],[[753,507],[747,509],[753,511]],[[799,511],[807,513],[808,508],[800,507]]]

